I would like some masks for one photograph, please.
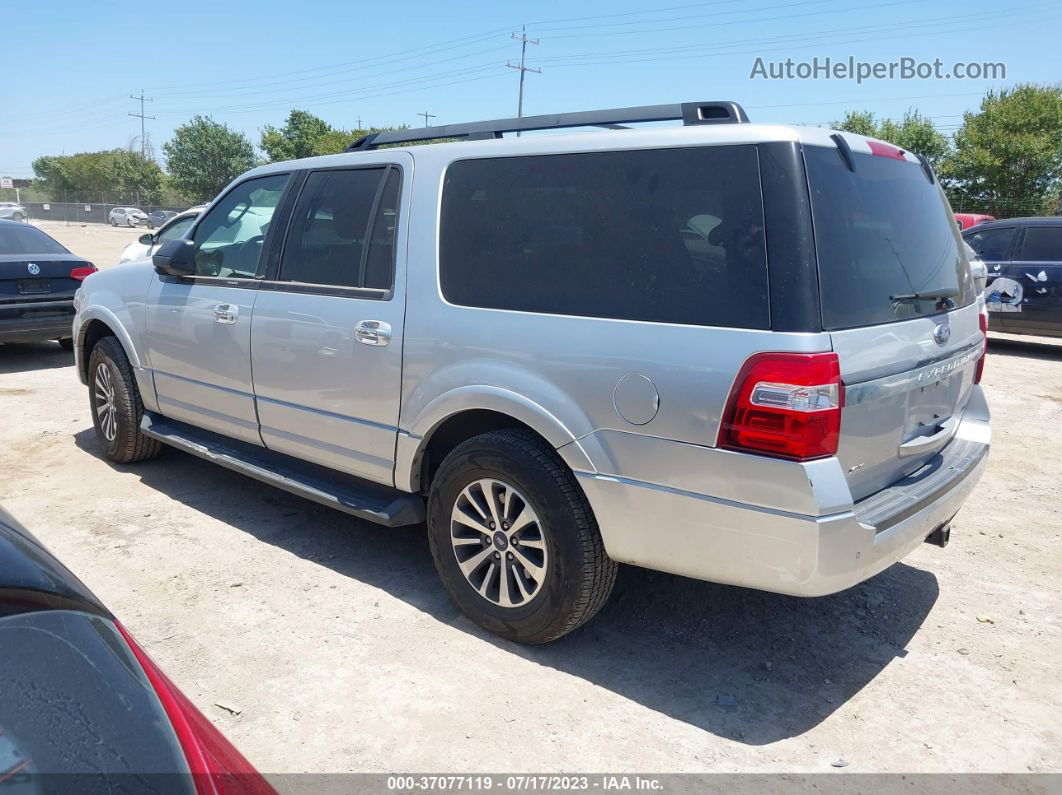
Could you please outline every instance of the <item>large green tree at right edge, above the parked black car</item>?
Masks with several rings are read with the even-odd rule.
[[[952,204],[999,218],[1054,212],[1062,189],[1062,87],[989,91],[947,162]]]

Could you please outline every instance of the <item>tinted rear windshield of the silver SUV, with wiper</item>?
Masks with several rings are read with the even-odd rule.
[[[806,146],[822,324],[872,326],[946,312],[974,300],[947,203],[920,166]]]

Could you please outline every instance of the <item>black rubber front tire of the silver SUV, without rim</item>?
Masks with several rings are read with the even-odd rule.
[[[97,411],[101,402],[97,397],[97,378],[101,367],[107,368],[109,383],[114,390],[117,422],[115,436],[112,439],[107,438],[100,421],[100,413]],[[96,437],[110,461],[131,464],[134,461],[144,461],[158,455],[161,444],[140,433],[140,420],[143,417],[140,391],[137,388],[130,360],[121,343],[114,336],[104,336],[100,340],[88,358],[88,405],[92,413]]]

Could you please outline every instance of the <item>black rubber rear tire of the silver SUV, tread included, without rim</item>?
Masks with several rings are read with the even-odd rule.
[[[462,490],[495,478],[526,496],[538,515],[550,560],[538,591],[516,607],[477,592],[461,572],[450,540],[450,516]],[[604,551],[571,470],[525,430],[484,433],[446,456],[431,484],[428,539],[435,569],[458,607],[487,632],[518,643],[547,643],[576,629],[601,609],[616,582],[616,563]]]

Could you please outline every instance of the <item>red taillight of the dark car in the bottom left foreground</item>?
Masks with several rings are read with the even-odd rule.
[[[129,630],[117,621],[115,626],[148,675],[148,680],[173,725],[173,731],[195,781],[195,792],[199,795],[276,795],[276,790],[195,709],[195,705],[170,681]]]

